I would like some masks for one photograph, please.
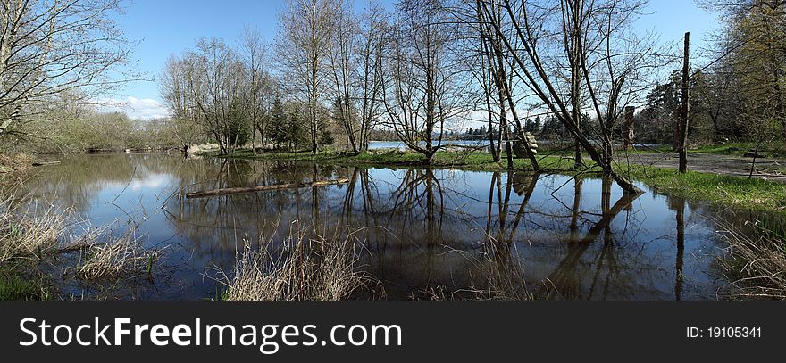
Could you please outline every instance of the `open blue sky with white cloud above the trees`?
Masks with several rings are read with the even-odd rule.
[[[382,0],[390,4],[395,0]],[[364,0],[355,0],[362,5]],[[131,56],[134,70],[150,80],[128,84],[100,100],[100,111],[126,111],[132,118],[163,117],[167,110],[155,79],[171,54],[192,48],[200,37],[238,42],[244,27],[259,29],[269,43],[276,37],[277,12],[283,0],[131,0],[117,21],[126,37],[138,42]],[[693,0],[650,0],[637,31],[655,31],[662,42],[676,49],[686,31],[696,49],[715,28],[715,14],[699,9]]]

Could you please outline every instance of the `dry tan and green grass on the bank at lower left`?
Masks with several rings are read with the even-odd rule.
[[[113,238],[108,227],[71,236],[69,213],[54,207],[31,213],[23,202],[0,199],[0,300],[54,299],[51,281],[59,281],[61,272],[96,284],[152,273],[158,251],[143,249],[130,235]],[[77,253],[76,264],[61,258],[71,253]]]

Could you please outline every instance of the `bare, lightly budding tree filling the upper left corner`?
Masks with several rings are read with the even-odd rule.
[[[0,135],[23,134],[27,121],[48,120],[69,102],[98,95],[134,79],[108,77],[130,53],[113,21],[119,0],[0,1]]]

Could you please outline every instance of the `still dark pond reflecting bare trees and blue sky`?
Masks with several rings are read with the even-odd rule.
[[[608,180],[523,172],[352,168],[184,159],[166,153],[73,155],[26,184],[39,205],[72,207],[90,226],[133,228],[163,248],[165,272],[129,299],[213,299],[244,240],[294,226],[347,228],[363,244],[361,268],[387,299],[428,299],[484,288],[474,280],[489,243],[521,262],[535,298],[715,300],[718,210],[657,194],[623,194]],[[184,192],[347,178],[339,186],[187,199]],[[738,216],[739,214],[739,216]],[[75,229],[84,228],[84,223]],[[74,231],[79,233],[78,230]],[[495,250],[499,251],[499,249]],[[488,259],[486,259],[488,260]],[[84,286],[71,286],[71,293]]]

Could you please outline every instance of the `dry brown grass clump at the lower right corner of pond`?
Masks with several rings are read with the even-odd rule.
[[[786,238],[759,225],[746,234],[725,227],[728,257],[721,260],[732,280],[732,297],[786,300]]]

